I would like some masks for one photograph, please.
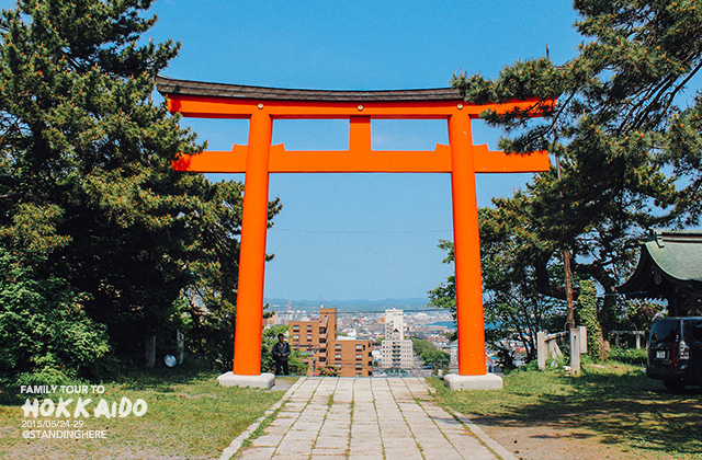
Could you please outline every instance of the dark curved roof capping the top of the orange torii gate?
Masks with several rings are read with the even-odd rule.
[[[178,80],[163,76],[156,77],[156,88],[161,94],[167,95],[269,101],[394,102],[463,100],[458,94],[458,90],[453,88],[372,91],[301,90]]]

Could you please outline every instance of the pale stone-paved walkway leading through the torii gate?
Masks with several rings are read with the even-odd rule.
[[[421,378],[301,378],[220,459],[517,459],[432,392]]]

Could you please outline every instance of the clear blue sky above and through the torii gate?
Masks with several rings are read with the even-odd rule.
[[[11,2],[0,0],[2,8]],[[444,88],[454,72],[496,77],[518,59],[563,62],[581,38],[569,2],[157,0],[146,36],[181,42],[163,71],[178,79],[278,88]],[[183,118],[213,150],[247,143],[244,120]],[[375,149],[448,143],[445,122],[373,123]],[[497,148],[499,131],[474,122],[474,142]],[[348,122],[275,122],[273,143],[344,149]],[[211,175],[223,180],[225,175]],[[242,175],[226,175],[242,181]],[[478,206],[509,196],[530,174],[478,175]],[[268,234],[265,297],[427,297],[453,269],[448,174],[272,174],[282,212]]]

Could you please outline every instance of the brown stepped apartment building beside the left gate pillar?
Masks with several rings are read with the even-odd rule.
[[[373,375],[371,341],[337,338],[337,309],[320,308],[316,321],[291,322],[288,342],[306,356],[310,371],[333,367],[341,377]]]

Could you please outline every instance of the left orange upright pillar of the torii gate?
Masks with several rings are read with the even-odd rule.
[[[272,130],[273,122],[270,115],[262,112],[251,114],[241,212],[239,290],[234,337],[234,373],[238,376],[261,373],[268,166]]]

